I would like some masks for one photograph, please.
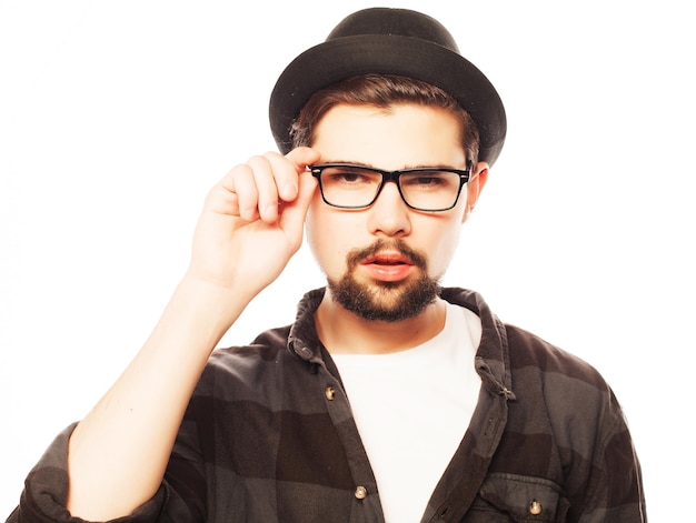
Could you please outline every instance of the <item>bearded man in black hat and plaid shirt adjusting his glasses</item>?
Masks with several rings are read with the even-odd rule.
[[[9,521],[644,521],[604,380],[438,285],[506,129],[447,30],[359,11],[286,69],[270,118],[284,155],[210,191],[151,336]],[[304,231],[327,288],[213,352]]]

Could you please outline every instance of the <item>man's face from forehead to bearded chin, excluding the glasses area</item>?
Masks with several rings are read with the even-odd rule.
[[[321,163],[389,171],[466,169],[459,137],[457,119],[440,109],[338,105],[319,122],[312,148],[321,153]],[[387,182],[371,207],[345,210],[326,204],[317,191],[307,218],[307,238],[327,275],[331,298],[369,320],[418,315],[437,296],[437,282],[474,202],[465,185],[454,209],[415,211],[401,200],[396,184]]]

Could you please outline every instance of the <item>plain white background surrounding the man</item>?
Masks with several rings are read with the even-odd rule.
[[[208,188],[274,149],[281,69],[368,2],[0,2],[0,515],[140,348]],[[623,403],[653,521],[693,487],[689,2],[402,1],[444,21],[509,133],[445,283],[588,360]],[[337,6],[337,7],[335,7]],[[689,34],[690,33],[690,34]],[[223,344],[322,284],[301,251]]]

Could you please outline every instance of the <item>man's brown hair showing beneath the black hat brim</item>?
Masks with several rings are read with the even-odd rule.
[[[292,123],[292,147],[311,145],[319,120],[338,104],[388,108],[395,103],[417,103],[451,111],[459,119],[461,145],[473,168],[478,162],[479,133],[476,123],[450,94],[430,83],[390,74],[352,77],[317,91]]]

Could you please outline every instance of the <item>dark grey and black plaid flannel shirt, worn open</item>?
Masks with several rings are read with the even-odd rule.
[[[213,352],[160,490],[119,522],[384,522],[340,376],[316,334],[322,295],[309,292],[291,326]],[[601,376],[503,324],[477,293],[443,296],[481,319],[483,385],[421,521],[646,521],[640,467]],[[81,521],[64,509],[72,426],[31,471],[8,522]]]

